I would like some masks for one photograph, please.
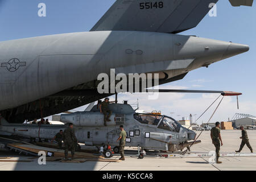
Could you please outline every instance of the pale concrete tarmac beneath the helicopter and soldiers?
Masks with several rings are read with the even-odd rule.
[[[199,133],[199,131],[197,131]],[[256,130],[247,130],[250,144],[256,151]],[[240,130],[222,130],[222,140],[224,146],[221,147],[221,154],[235,154],[241,144]],[[210,132],[203,131],[199,140],[202,142],[196,144],[191,148],[191,154],[205,153],[214,151],[214,146],[210,140]],[[128,149],[128,148],[126,148]],[[129,148],[134,150],[135,148]],[[137,159],[136,156],[127,156],[123,162],[109,163],[109,162],[85,162],[85,163],[61,163],[61,162],[47,162],[46,165],[39,165],[38,159],[31,156],[19,155],[15,152],[0,152],[0,157],[12,157],[11,160],[32,160],[32,162],[0,162],[1,171],[12,170],[28,170],[28,171],[243,171],[256,170],[256,154],[250,156],[250,150],[246,146],[243,148],[243,154],[249,156],[239,157],[221,157],[222,164],[211,164],[209,158],[204,157],[187,157],[185,158],[159,158],[147,157],[144,159]],[[176,154],[176,153],[175,153]],[[118,159],[119,156],[114,156],[113,159]]]

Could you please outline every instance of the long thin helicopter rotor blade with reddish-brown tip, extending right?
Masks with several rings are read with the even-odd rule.
[[[242,93],[216,90],[176,90],[176,89],[146,89],[146,92],[159,93],[220,93],[222,96],[240,96]]]

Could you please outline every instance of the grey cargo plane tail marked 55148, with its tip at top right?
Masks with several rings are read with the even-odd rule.
[[[253,0],[229,0],[252,6]],[[91,31],[178,33],[196,27],[218,0],[117,0]]]

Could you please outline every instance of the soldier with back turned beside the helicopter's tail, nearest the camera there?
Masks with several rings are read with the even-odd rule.
[[[64,130],[64,145],[65,145],[65,160],[68,160],[68,151],[71,150],[72,160],[75,156],[75,143],[77,138],[75,130],[73,129],[73,123],[68,124],[68,128]]]

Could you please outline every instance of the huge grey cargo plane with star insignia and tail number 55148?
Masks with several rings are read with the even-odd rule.
[[[243,44],[177,35],[196,27],[217,2],[117,0],[89,32],[0,42],[2,117],[23,123],[110,96],[98,94],[97,76],[113,68],[126,75],[159,73],[159,84],[166,84],[248,51]]]

